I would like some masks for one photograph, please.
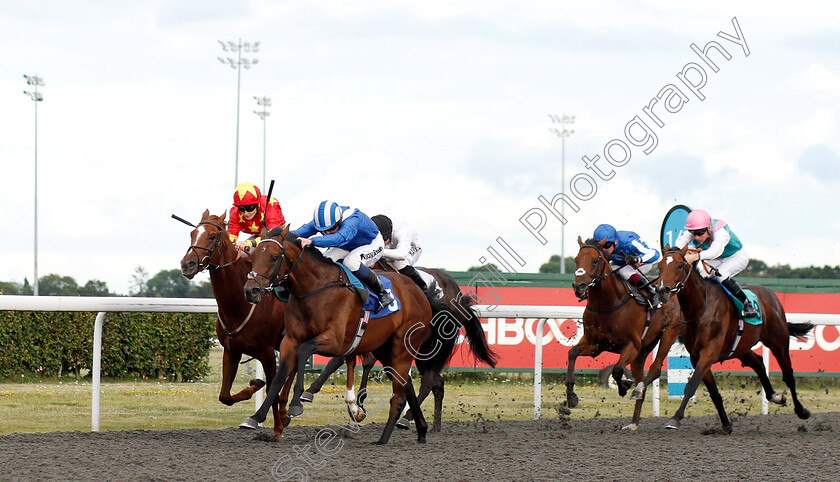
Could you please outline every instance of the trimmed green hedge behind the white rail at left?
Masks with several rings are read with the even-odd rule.
[[[0,378],[79,376],[93,363],[96,313],[0,311]],[[215,316],[109,313],[102,376],[196,380],[209,371]]]

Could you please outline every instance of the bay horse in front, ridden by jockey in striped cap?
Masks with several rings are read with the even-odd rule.
[[[433,314],[445,312],[445,305],[429,300],[408,278],[388,275],[402,308],[370,321],[364,336],[354,343],[362,305],[341,267],[317,249],[301,248],[298,237],[289,234],[288,229],[272,230],[269,237],[253,251],[252,257],[253,272],[244,286],[246,298],[258,303],[263,291],[275,285],[286,286],[291,297],[286,308],[286,336],[280,343],[280,361],[268,389],[268,399],[240,426],[256,428],[266,418],[268,400],[278,394],[279,415],[285,417],[285,402],[292,380],[290,374],[295,369],[295,354],[299,349],[304,352],[313,350],[326,356],[371,352],[385,367],[383,370],[391,378],[394,393],[388,422],[377,443],[388,442],[403,396],[417,422],[417,441],[424,443],[428,426],[414,393],[409,369],[418,355],[425,357],[429,354],[427,362],[434,367],[442,367],[446,362],[445,356],[441,355],[442,350],[431,349],[443,340],[438,330],[430,330]],[[274,433],[278,438],[282,430],[282,426],[275,425]]]

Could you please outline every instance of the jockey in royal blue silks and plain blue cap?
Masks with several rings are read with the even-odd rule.
[[[609,224],[601,224],[595,228],[592,237],[597,241],[606,241],[602,247],[611,255],[608,256],[610,267],[613,271],[617,270],[623,279],[647,292],[651,309],[662,306],[656,289],[645,276],[653,267],[653,263],[659,261],[659,251],[649,248],[633,231],[616,231]]]

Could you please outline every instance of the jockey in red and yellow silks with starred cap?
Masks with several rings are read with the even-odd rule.
[[[266,198],[267,196],[260,194],[260,189],[250,182],[236,186],[233,192],[233,207],[230,208],[228,233],[238,249],[252,248],[260,242],[259,238],[253,241],[237,240],[240,232],[255,237],[263,225],[269,230],[286,225],[280,203],[271,198],[266,206]]]

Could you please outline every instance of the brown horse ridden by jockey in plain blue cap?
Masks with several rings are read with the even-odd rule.
[[[633,421],[624,428],[636,430],[645,387],[659,378],[668,350],[679,337],[680,308],[672,300],[648,312],[645,306],[634,301],[627,284],[610,268],[609,258],[602,248],[603,240],[589,239],[584,243],[578,237],[578,244],[580,251],[575,257],[577,269],[572,285],[577,297],[588,301],[583,312],[583,337],[569,350],[566,400],[570,408],[578,404],[574,392],[575,360],[578,356],[596,357],[604,351],[618,353],[612,376],[618,385],[619,395],[623,397],[629,388],[629,381],[621,380],[628,363],[636,382],[631,396],[632,400],[636,400]],[[659,349],[645,377],[645,359],[657,342]]]

